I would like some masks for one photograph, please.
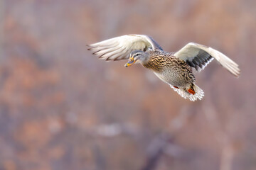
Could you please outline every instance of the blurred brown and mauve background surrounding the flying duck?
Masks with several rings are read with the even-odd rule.
[[[256,169],[255,0],[0,1],[0,169]],[[202,101],[149,70],[105,62],[87,44],[151,35],[213,61],[196,74]]]

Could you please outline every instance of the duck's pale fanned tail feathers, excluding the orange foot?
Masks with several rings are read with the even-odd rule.
[[[177,93],[179,95],[181,95],[181,97],[183,97],[183,98],[188,98],[191,101],[196,101],[197,99],[201,100],[203,98],[203,96],[204,96],[203,90],[200,89],[198,86],[196,86],[196,84],[193,84],[192,86],[193,86],[193,89],[196,92],[196,94],[188,93],[186,88],[184,88],[184,89],[176,89],[176,88],[174,88],[174,86],[171,86],[171,88],[174,89],[174,91],[177,91]]]

